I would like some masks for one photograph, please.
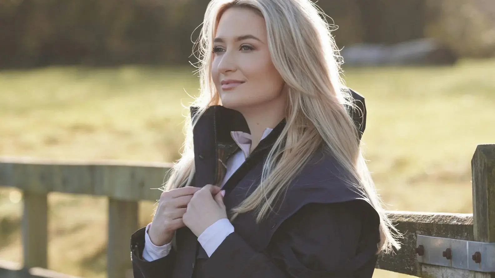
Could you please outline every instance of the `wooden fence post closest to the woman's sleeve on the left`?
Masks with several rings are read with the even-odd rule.
[[[138,202],[108,198],[107,278],[125,278],[132,268],[130,238],[138,229]]]

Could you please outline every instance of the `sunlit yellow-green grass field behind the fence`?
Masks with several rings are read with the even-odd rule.
[[[192,70],[2,71],[0,155],[173,161],[183,140],[187,93],[198,92]],[[454,67],[348,68],[345,80],[366,97],[364,149],[389,209],[471,213],[471,157],[477,144],[495,142],[495,60],[462,60]],[[14,189],[0,189],[0,259],[18,262],[19,196]],[[105,277],[106,200],[52,193],[49,206],[49,268]],[[140,204],[141,226],[151,220],[152,207]]]

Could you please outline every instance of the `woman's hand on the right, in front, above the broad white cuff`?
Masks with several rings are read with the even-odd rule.
[[[227,218],[222,191],[218,186],[204,185],[191,198],[186,213],[182,216],[182,221],[196,236],[199,236],[211,224]]]

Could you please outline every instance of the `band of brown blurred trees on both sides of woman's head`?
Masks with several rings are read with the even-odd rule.
[[[0,67],[186,63],[209,0],[0,0]],[[337,44],[425,35],[495,53],[493,0],[320,0]],[[481,8],[480,8],[481,7]],[[331,20],[329,20],[332,22]],[[466,40],[469,38],[469,40]],[[482,49],[483,51],[480,51]]]

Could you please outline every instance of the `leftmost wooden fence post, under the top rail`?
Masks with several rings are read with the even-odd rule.
[[[47,268],[47,194],[23,190],[22,249],[24,268]]]

